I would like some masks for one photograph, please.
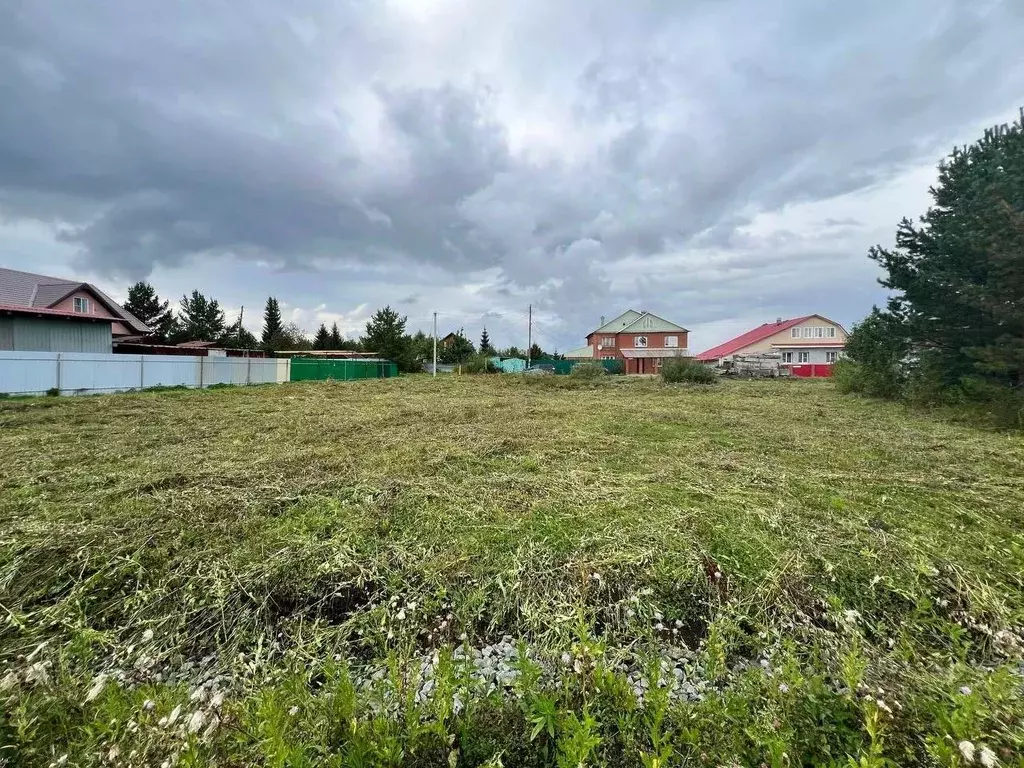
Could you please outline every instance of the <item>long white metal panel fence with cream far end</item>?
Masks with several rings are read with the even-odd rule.
[[[87,394],[148,387],[276,384],[288,381],[290,364],[265,357],[0,351],[0,392],[42,394],[57,389],[60,394]]]

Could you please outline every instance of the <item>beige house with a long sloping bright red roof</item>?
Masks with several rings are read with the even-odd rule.
[[[846,329],[822,314],[807,314],[762,326],[700,352],[702,362],[719,364],[737,354],[777,352],[781,364],[797,376],[830,376],[843,356]]]

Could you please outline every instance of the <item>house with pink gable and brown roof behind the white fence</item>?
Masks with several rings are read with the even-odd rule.
[[[95,286],[0,267],[0,349],[110,352],[150,329]]]

